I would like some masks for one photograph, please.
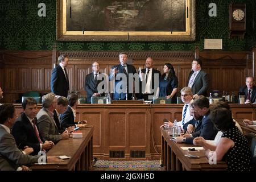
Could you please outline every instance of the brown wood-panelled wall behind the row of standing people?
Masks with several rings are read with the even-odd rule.
[[[254,50],[255,51],[255,50]],[[245,84],[245,76],[252,73],[247,65],[251,52],[201,51],[197,57],[203,60],[203,69],[210,75],[209,90],[238,91]],[[65,53],[69,56],[68,75],[71,92],[85,96],[85,76],[92,72],[93,61],[100,63],[100,71],[109,73],[110,68],[119,64],[117,51],[68,52],[68,51],[2,51],[0,52],[0,86],[4,101],[15,102],[20,94],[35,90],[42,94],[50,92],[52,60]],[[187,85],[188,74],[195,52],[127,52],[135,68],[144,68],[148,56],[154,59],[154,68],[163,72],[164,63],[174,66],[179,81],[179,90]]]

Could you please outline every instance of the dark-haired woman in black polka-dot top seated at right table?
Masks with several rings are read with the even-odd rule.
[[[249,171],[251,157],[249,144],[245,136],[235,126],[232,112],[224,107],[213,106],[210,118],[214,126],[223,134],[217,146],[211,147],[213,151],[210,151],[208,144],[203,144],[205,155],[210,158],[216,154],[216,160],[224,160],[229,171]],[[195,140],[204,140],[204,138],[199,137]]]

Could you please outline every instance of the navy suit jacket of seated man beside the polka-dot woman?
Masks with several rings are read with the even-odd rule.
[[[199,131],[192,133],[193,137],[187,137],[185,143],[193,143],[193,139],[196,137],[203,137],[206,140],[214,140],[218,130],[214,127],[213,122],[209,118],[210,111],[205,114],[205,117],[202,120],[202,124]]]

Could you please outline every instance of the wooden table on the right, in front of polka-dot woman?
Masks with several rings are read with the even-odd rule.
[[[162,134],[162,155],[161,159],[166,170],[182,171],[182,170],[225,170],[227,168],[225,162],[217,162],[210,165],[205,151],[188,152],[181,147],[195,147],[192,144],[175,143],[167,134],[167,131],[160,129]],[[193,154],[200,156],[199,159],[188,158],[185,154]]]

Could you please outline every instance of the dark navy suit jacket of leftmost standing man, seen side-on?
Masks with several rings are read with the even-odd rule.
[[[69,84],[60,65],[57,65],[52,71],[51,90],[56,95],[68,96]]]

